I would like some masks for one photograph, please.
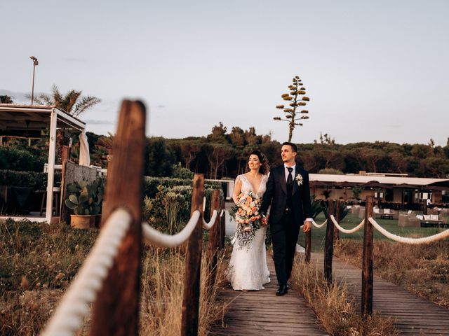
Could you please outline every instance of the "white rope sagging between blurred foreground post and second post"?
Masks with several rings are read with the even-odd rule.
[[[215,213],[217,211],[215,210]],[[189,222],[185,225],[185,228],[176,235],[166,235],[165,233],[159,232],[158,230],[152,228],[147,223],[142,223],[142,236],[145,243],[152,244],[158,247],[175,247],[184,243],[192,234],[196,223],[198,223],[199,216],[201,213],[199,210],[194,211],[192,217],[190,217]]]

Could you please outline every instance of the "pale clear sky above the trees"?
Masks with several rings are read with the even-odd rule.
[[[147,106],[147,135],[204,136],[222,122],[286,141],[294,76],[309,120],[293,134],[338,144],[445,146],[449,0],[1,1],[0,93],[82,90],[81,116],[114,133],[121,99]]]

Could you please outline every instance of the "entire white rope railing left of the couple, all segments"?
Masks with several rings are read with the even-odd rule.
[[[154,246],[178,246],[190,237],[200,216],[199,210],[194,211],[185,228],[176,235],[163,234],[144,222],[142,223],[142,237],[146,243]],[[214,210],[209,223],[202,218],[203,227],[207,230],[212,228],[217,216],[218,211]],[[131,221],[132,218],[125,209],[117,209],[109,216],[91,252],[62,297],[55,314],[41,333],[42,336],[69,336],[79,330],[83,318],[89,312],[89,304],[95,301],[98,290],[102,288],[102,281],[114,263],[114,258]]]

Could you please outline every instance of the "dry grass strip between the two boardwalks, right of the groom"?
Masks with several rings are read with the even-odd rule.
[[[323,274],[304,262],[304,258],[295,258],[291,282],[314,309],[330,335],[399,335],[390,318],[382,318],[378,314],[360,316],[344,283],[328,285]]]

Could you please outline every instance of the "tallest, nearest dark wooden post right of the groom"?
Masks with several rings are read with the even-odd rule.
[[[373,225],[368,221],[368,218],[373,217],[373,203],[373,196],[366,197],[362,256],[362,315],[373,313]]]

